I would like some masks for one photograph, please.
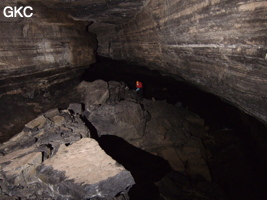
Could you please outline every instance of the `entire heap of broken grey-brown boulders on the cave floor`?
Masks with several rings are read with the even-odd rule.
[[[127,200],[127,192],[134,184],[130,172],[89,138],[85,120],[96,129],[98,137],[115,135],[167,160],[174,175],[158,183],[165,199],[173,199],[173,195],[187,198],[192,192],[200,194],[196,199],[212,199],[212,195],[205,196],[206,191],[197,188],[198,183],[208,185],[212,181],[207,165],[210,152],[203,145],[211,138],[198,115],[179,102],[137,101],[134,91],[115,81],[82,82],[77,92],[80,103],[69,104],[67,110],[49,110],[0,147],[2,195],[30,199],[31,190],[37,191],[33,199]],[[182,180],[177,182],[173,177]],[[179,181],[183,180],[186,182],[182,184],[193,184],[188,186],[188,194],[181,189]],[[179,194],[168,191],[166,184]]]

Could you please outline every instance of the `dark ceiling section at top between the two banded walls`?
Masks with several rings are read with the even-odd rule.
[[[77,21],[122,24],[133,19],[147,0],[21,0],[27,5],[45,6],[68,13]]]

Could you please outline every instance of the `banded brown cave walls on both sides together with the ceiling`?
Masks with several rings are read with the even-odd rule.
[[[34,15],[0,13],[0,96],[80,75],[94,62],[90,31],[100,56],[183,79],[267,123],[266,1],[3,0],[1,11],[6,5],[30,5]]]

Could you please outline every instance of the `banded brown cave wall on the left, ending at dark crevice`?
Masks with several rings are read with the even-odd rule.
[[[5,6],[31,6],[34,14],[6,18]],[[0,10],[0,96],[71,80],[95,62],[95,36],[86,32],[85,23],[37,1],[4,0]]]

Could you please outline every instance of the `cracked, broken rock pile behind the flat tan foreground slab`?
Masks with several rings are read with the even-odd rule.
[[[0,152],[7,154],[31,145],[50,145],[55,150],[60,144],[72,144],[84,137],[90,137],[90,131],[79,116],[55,109],[27,123],[21,133],[0,146]]]

